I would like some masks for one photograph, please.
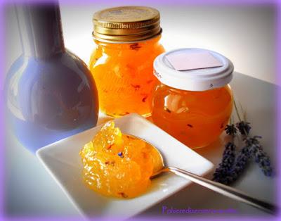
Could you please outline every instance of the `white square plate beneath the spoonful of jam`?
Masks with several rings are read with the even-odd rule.
[[[126,134],[141,137],[155,145],[162,153],[166,165],[188,170],[197,175],[206,175],[213,164],[195,151],[171,137],[137,114],[126,115],[114,120],[117,127]],[[37,151],[37,156],[74,203],[86,217],[128,218],[150,208],[191,182],[176,175],[164,175],[152,180],[148,191],[136,198],[117,199],[88,189],[81,179],[81,147],[91,141],[102,125],[55,142]]]

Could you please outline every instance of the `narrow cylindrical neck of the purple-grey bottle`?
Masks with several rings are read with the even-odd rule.
[[[48,58],[65,51],[58,4],[16,6],[22,51]]]

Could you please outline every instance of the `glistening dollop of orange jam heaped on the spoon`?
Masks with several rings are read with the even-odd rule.
[[[122,134],[107,122],[80,151],[87,186],[106,196],[133,198],[145,192],[152,172],[162,166],[159,153],[147,142]]]

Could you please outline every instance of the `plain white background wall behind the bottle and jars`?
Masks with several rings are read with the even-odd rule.
[[[93,50],[92,15],[102,8],[140,4],[136,1],[93,1],[61,4],[65,46],[86,63]],[[235,71],[275,83],[275,15],[273,5],[174,5],[173,1],[142,5],[161,13],[162,44],[166,50],[200,47],[230,58]],[[15,13],[6,13],[6,70],[21,53]]]

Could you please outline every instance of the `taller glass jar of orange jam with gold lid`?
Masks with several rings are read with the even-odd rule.
[[[155,8],[141,6],[108,8],[93,15],[96,49],[89,66],[106,115],[150,115],[157,82],[153,61],[164,52],[159,18]]]

